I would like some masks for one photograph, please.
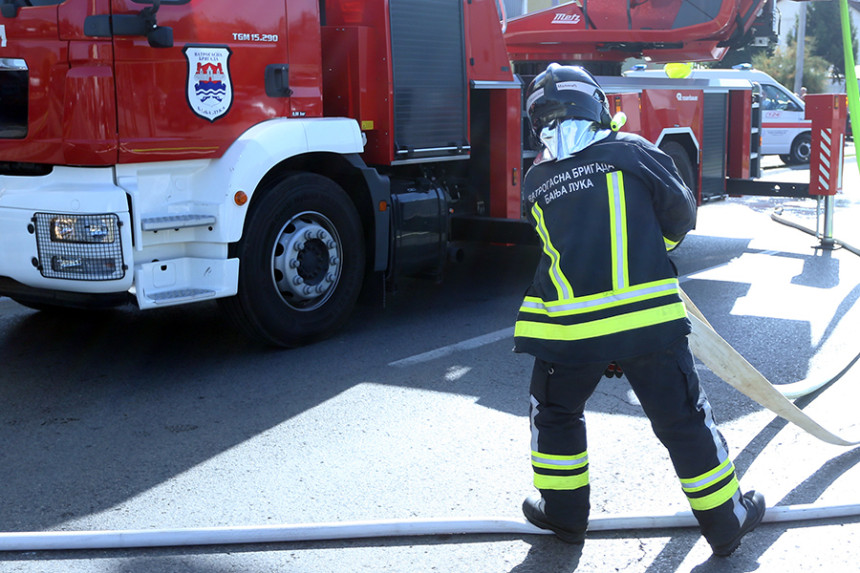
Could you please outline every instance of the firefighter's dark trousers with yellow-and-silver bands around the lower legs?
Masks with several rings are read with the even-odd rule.
[[[687,338],[663,351],[618,364],[654,433],[669,451],[702,534],[711,544],[730,540],[740,530],[746,510],[725,440],[699,384]],[[545,500],[547,517],[571,530],[584,531],[588,524],[584,409],[605,370],[602,363],[563,365],[536,359],[532,372],[535,486]]]

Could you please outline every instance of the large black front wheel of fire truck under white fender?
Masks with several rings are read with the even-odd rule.
[[[355,206],[337,184],[313,173],[292,174],[261,193],[231,248],[239,259],[238,293],[220,304],[266,344],[324,338],[349,318],[364,279]]]

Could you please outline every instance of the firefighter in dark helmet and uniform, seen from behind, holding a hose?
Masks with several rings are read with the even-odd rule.
[[[695,226],[693,194],[668,155],[610,129],[606,95],[583,68],[550,64],[529,85],[526,106],[542,149],[523,193],[543,252],[515,328],[515,350],[535,358],[531,449],[540,493],[523,513],[568,543],[583,542],[583,411],[615,362],[669,451],[703,536],[715,555],[729,555],[759,524],[765,501],[741,494],[687,342],[668,251]]]

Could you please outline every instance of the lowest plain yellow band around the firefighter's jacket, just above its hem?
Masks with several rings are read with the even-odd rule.
[[[541,340],[584,340],[606,336],[616,332],[634,330],[655,324],[670,322],[687,316],[683,302],[672,303],[657,308],[628,312],[618,316],[592,320],[582,324],[547,324],[518,320],[514,336],[538,338]]]

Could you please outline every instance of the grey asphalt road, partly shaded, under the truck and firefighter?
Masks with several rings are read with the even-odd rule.
[[[835,235],[860,245],[853,157],[844,188]],[[815,248],[774,208],[815,226],[810,200],[702,206],[674,255],[682,284],[774,383],[829,378],[860,351],[860,257]],[[290,351],[249,344],[211,304],[58,316],[0,299],[0,530],[519,519],[531,360],[510,333],[536,256],[469,247],[441,284],[404,279],[384,307]],[[797,404],[860,439],[855,370]],[[860,504],[860,449],[700,375],[745,489],[769,506]],[[594,517],[688,509],[624,379],[601,382],[587,416]],[[7,552],[0,572],[838,573],[856,570],[858,533],[858,517],[765,524],[729,559],[694,529],[664,529],[593,533],[582,548],[511,534]]]

